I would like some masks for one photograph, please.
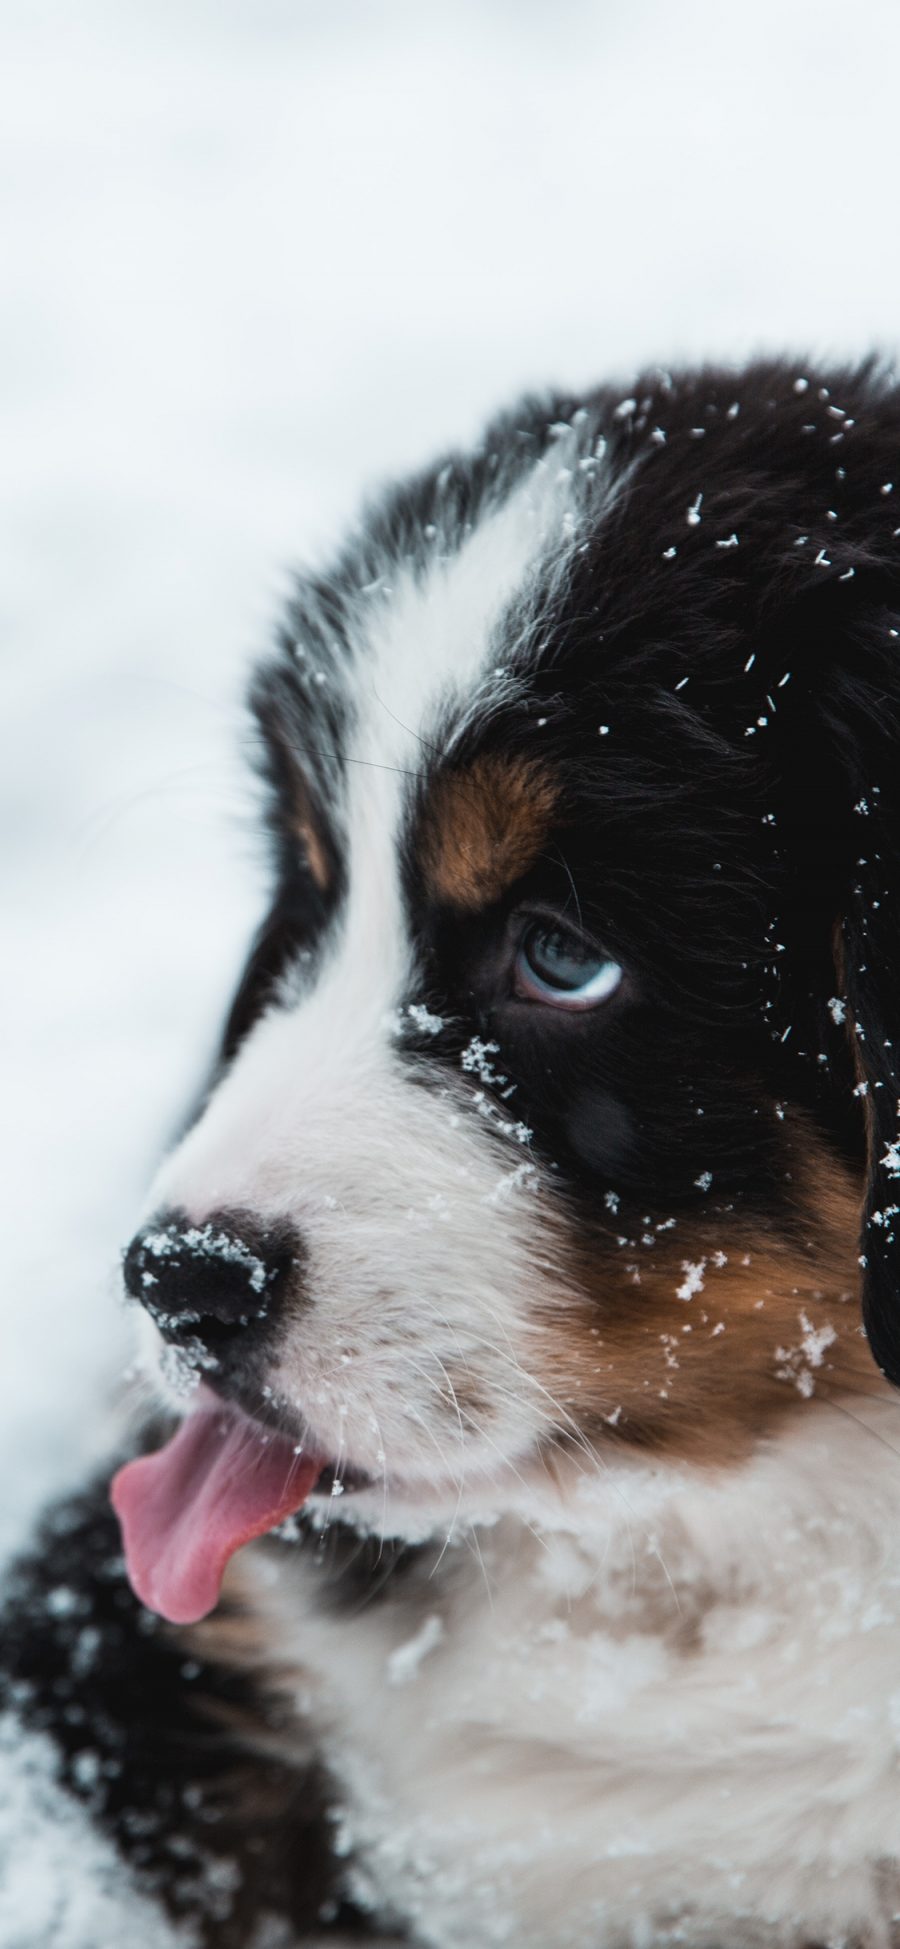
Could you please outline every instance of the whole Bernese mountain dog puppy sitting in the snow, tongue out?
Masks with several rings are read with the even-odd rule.
[[[886,1949],[900,392],[528,400],[251,702],[156,1423],[14,1573],[19,1723],[206,1949]]]

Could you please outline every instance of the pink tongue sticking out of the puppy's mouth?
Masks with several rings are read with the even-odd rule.
[[[321,1468],[206,1394],[166,1448],[113,1477],[134,1594],[169,1624],[197,1624],[234,1551],[300,1509]]]

